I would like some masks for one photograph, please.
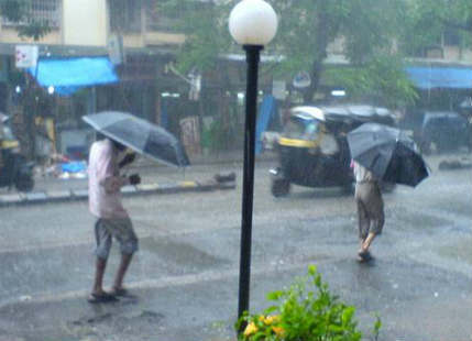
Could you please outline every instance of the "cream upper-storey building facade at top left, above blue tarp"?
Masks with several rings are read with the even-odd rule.
[[[129,48],[165,47],[184,41],[182,34],[169,29],[172,19],[156,13],[153,0],[32,0],[29,12],[30,19],[47,21],[51,32],[34,42],[17,33],[15,26],[24,22],[12,23],[3,19],[0,30],[2,47],[6,44],[34,43],[57,47],[56,51],[65,55],[80,55],[80,52],[92,51],[92,47],[106,52],[113,33],[121,33],[124,46]]]

